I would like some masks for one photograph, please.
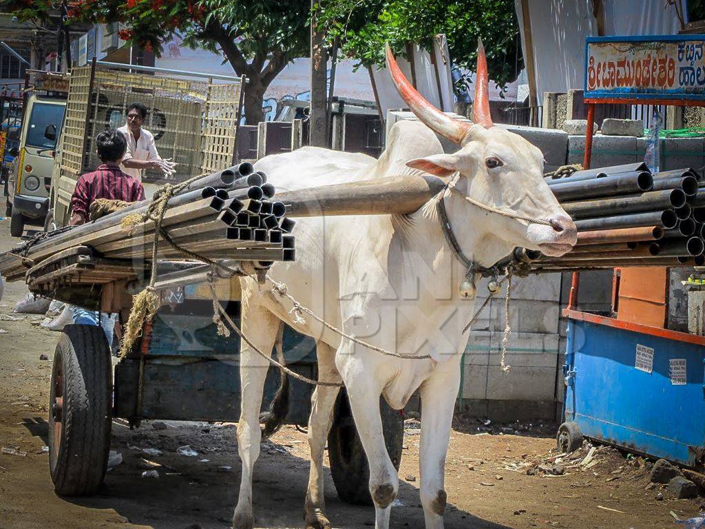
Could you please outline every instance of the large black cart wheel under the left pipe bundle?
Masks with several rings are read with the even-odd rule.
[[[94,494],[108,466],[112,372],[101,327],[66,325],[49,396],[49,472],[62,496]]]

